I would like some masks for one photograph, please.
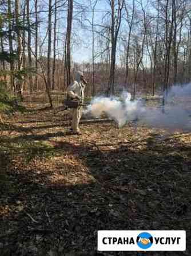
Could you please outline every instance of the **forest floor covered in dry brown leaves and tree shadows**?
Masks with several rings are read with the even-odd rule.
[[[27,104],[0,127],[0,255],[190,255],[191,134]],[[97,252],[97,230],[186,230],[184,252]]]

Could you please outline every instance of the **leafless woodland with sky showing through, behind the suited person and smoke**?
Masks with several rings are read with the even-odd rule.
[[[73,60],[79,30],[91,48],[83,63]],[[135,98],[190,82],[190,0],[0,0],[0,39],[1,87],[21,99],[45,90],[50,106],[78,68],[89,96],[124,87]]]

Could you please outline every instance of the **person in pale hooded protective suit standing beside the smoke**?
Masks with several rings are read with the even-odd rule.
[[[73,83],[67,87],[67,95],[69,95],[72,99],[78,99],[83,104],[84,99],[84,90],[87,85],[86,80],[83,77],[83,73],[78,71],[75,74],[75,80]],[[72,108],[72,121],[71,121],[71,132],[73,134],[81,135],[81,131],[79,130],[79,121],[82,117],[82,106],[77,108]]]

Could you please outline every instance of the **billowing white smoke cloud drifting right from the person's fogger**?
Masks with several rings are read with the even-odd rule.
[[[184,102],[185,97],[191,96],[191,83],[184,87],[173,86],[169,92],[169,99],[181,97]],[[117,122],[118,127],[122,127],[128,121],[137,119],[138,122],[152,127],[161,127],[166,129],[191,129],[191,100],[189,108],[173,104],[165,106],[165,112],[162,107],[144,106],[141,99],[130,100],[129,92],[123,92],[120,97],[95,97],[91,100],[89,106],[83,111],[83,114],[91,114],[93,117],[101,117],[103,114]],[[177,104],[176,104],[177,103]]]

